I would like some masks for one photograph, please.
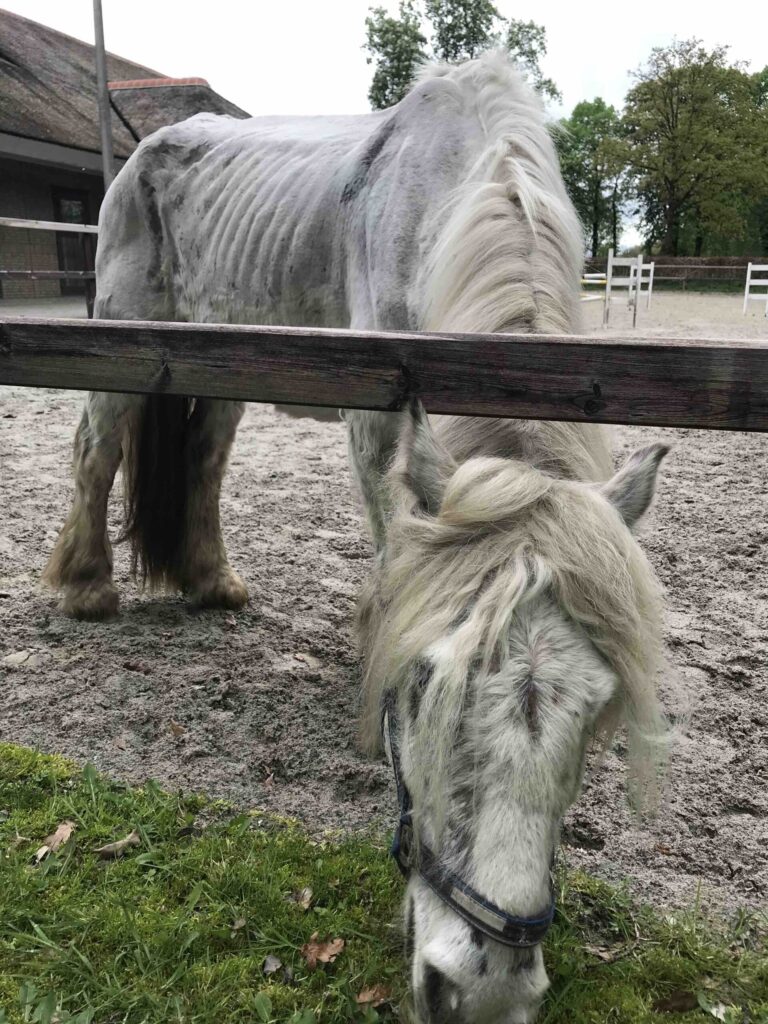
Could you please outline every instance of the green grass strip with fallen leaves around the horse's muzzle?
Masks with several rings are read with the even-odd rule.
[[[72,839],[33,866],[63,820]],[[121,859],[93,852],[133,829],[140,846]],[[0,1021],[396,1019],[401,884],[386,848],[381,837],[317,843],[295,823],[0,744]],[[586,876],[560,884],[542,1024],[768,1022],[764,921],[665,919]],[[306,887],[308,910],[291,898]],[[346,944],[309,971],[300,949],[314,932]],[[268,977],[267,956],[283,964]],[[374,985],[391,992],[378,1011],[355,998]]]

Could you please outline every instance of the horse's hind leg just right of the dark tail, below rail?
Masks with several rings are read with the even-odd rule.
[[[184,593],[199,607],[241,608],[248,601],[248,591],[226,557],[219,514],[221,483],[244,412],[244,402],[199,398],[189,419],[179,575]]]

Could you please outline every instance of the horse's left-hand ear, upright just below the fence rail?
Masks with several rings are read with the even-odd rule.
[[[456,463],[435,437],[418,398],[409,403],[404,420],[397,450],[400,479],[420,508],[436,515]]]

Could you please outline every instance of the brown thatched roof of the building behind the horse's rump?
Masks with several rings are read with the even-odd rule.
[[[111,91],[116,157],[130,156],[138,139],[162,125],[202,111],[248,117],[204,79],[169,79],[112,53],[106,73],[119,86]],[[98,153],[93,46],[0,10],[0,132]]]

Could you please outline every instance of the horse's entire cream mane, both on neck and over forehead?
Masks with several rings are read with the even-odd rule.
[[[421,328],[578,330],[582,229],[539,98],[499,52],[427,67],[427,79],[440,79],[464,115],[477,118],[487,144],[434,225],[420,279]],[[471,670],[479,658],[479,671],[489,672],[504,657],[515,615],[548,596],[616,673],[618,692],[598,731],[607,743],[624,719],[632,795],[652,803],[668,735],[655,693],[662,600],[647,559],[595,485],[610,471],[605,440],[582,424],[538,424],[537,447],[552,464],[532,466],[490,457],[493,444],[483,453],[480,441],[493,430],[485,423],[483,431],[466,421],[438,428],[441,440],[453,431],[468,449],[436,515],[414,509],[400,456],[389,471],[386,559],[358,616],[364,742],[380,742],[384,690],[406,686],[414,662],[452,635],[451,665],[426,683],[413,725],[420,763],[439,772],[452,756]],[[414,784],[423,784],[423,773],[415,775]]]

